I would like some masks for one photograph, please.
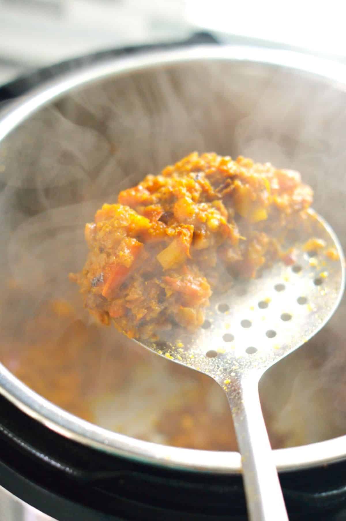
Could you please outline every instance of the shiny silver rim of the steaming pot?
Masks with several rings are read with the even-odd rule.
[[[287,68],[335,83],[336,88],[346,91],[346,66],[292,51],[232,45],[198,45],[173,51],[155,51],[129,58],[107,59],[93,66],[86,65],[78,71],[49,80],[31,90],[1,111],[0,142],[35,111],[78,87],[144,69],[203,60],[245,61]],[[137,440],[91,424],[32,391],[1,363],[0,393],[25,414],[49,429],[93,449],[147,464],[181,470],[217,474],[241,473],[238,452],[177,448]],[[273,452],[277,469],[282,472],[325,465],[346,458],[346,435]]]

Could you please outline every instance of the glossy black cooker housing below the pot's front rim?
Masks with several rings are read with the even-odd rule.
[[[54,518],[247,519],[241,476],[129,461],[63,438],[4,398],[0,410],[0,484]],[[343,462],[281,474],[280,481],[290,519],[341,520],[343,508],[346,515]]]

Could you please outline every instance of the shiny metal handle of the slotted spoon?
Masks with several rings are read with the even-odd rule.
[[[244,375],[237,388],[227,390],[226,394],[241,454],[249,519],[287,521],[283,492],[264,424],[257,375]]]

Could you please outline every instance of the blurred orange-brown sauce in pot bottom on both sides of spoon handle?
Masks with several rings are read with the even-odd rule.
[[[0,342],[5,367],[47,400],[101,427],[168,445],[237,450],[228,404],[214,381],[146,350],[114,345],[114,328],[86,322],[78,295],[75,306],[70,302],[42,300],[37,306],[34,294],[11,281],[0,305],[7,318]],[[333,423],[334,404],[316,356],[332,326],[271,369],[260,386],[273,448],[344,433],[344,422]],[[312,353],[313,363],[307,361]],[[292,382],[285,375],[297,356],[302,370]]]

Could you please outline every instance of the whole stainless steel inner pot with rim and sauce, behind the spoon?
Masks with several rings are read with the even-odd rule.
[[[92,324],[68,274],[83,264],[83,226],[100,203],[193,150],[300,170],[342,241],[344,73],[292,53],[196,47],[105,61],[9,106],[0,120],[0,392],[97,450],[239,473],[222,392]],[[346,458],[343,313],[344,302],[261,382],[279,470]]]

